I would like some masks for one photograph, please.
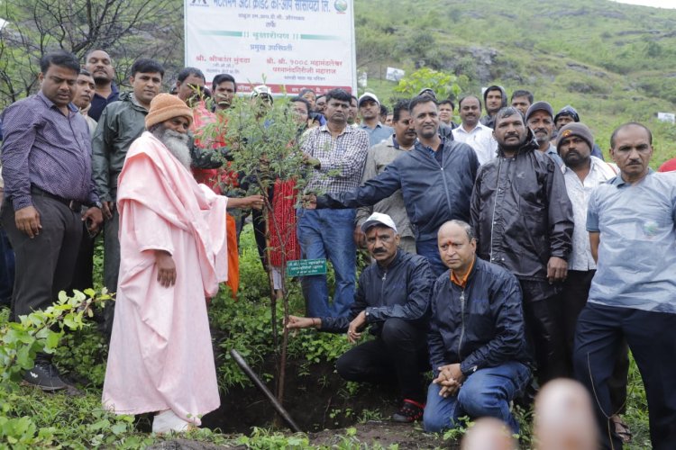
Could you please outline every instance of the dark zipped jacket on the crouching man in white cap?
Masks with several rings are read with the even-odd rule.
[[[383,322],[391,318],[410,320],[426,329],[433,284],[427,258],[397,250],[388,267],[373,263],[364,269],[348,316],[322,318],[322,330],[342,333],[361,311],[366,311],[366,323],[375,336],[380,335]]]

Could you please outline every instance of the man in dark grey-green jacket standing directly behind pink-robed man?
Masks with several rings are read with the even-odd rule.
[[[160,94],[164,67],[147,58],[132,65],[132,92],[120,95],[101,113],[92,138],[92,169],[96,190],[103,203],[104,225],[104,285],[109,292],[117,291],[120,270],[120,241],[117,238],[119,216],[115,208],[117,176],[122,172],[124,158],[132,142],[145,131],[145,116],[151,100]],[[113,303],[105,310],[104,331],[110,336],[113,327]]]

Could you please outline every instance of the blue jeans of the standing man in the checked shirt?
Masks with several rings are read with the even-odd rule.
[[[327,258],[335,272],[335,293],[329,304],[326,275],[301,277],[308,317],[346,316],[354,302],[357,248],[354,245],[354,210],[297,211],[297,234],[302,257]]]

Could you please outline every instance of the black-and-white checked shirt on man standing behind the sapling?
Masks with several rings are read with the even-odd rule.
[[[342,193],[361,184],[361,173],[369,150],[369,135],[364,130],[346,126],[333,139],[326,125],[310,130],[302,144],[303,151],[319,160],[312,169],[307,193]]]

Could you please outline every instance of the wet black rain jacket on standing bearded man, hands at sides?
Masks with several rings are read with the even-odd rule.
[[[561,169],[537,148],[528,130],[514,157],[498,147],[498,157],[480,167],[471,223],[479,257],[519,279],[544,281],[550,257],[568,260],[573,219]]]

